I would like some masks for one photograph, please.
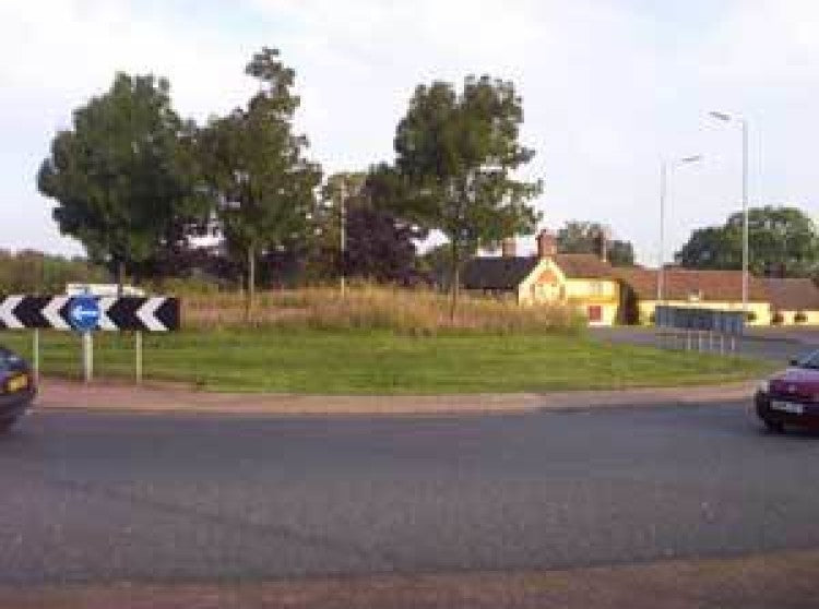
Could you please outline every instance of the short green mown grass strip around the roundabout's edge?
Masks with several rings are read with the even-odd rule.
[[[24,355],[31,333],[0,333]],[[80,338],[44,332],[46,374],[79,378]],[[749,359],[608,345],[565,334],[293,329],[145,335],[145,377],[211,391],[299,394],[519,393],[720,383],[758,377]],[[96,373],[133,375],[133,337],[97,334]]]

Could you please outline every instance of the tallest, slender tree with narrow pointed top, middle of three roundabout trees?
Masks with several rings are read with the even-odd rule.
[[[299,97],[295,71],[263,48],[246,73],[259,81],[247,108],[211,120],[201,138],[206,180],[229,250],[246,262],[247,314],[252,315],[256,264],[262,253],[305,239],[316,205],[320,167],[307,160],[307,138],[294,134]]]

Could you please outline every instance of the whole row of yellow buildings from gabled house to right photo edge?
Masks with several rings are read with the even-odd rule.
[[[499,256],[478,256],[462,272],[464,289],[514,299],[521,306],[577,307],[591,325],[652,324],[658,300],[658,272],[641,266],[613,267],[600,254],[561,254],[548,231],[537,237],[537,254],[517,255],[514,241]],[[667,267],[662,302],[722,311],[743,310],[741,271]],[[748,323],[819,325],[819,288],[811,279],[759,278],[748,282]]]

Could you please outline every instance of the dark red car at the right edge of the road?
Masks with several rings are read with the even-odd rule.
[[[819,351],[760,383],[755,402],[771,431],[781,433],[788,425],[819,428]]]

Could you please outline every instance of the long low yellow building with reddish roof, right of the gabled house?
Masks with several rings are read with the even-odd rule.
[[[658,300],[658,273],[655,268],[621,267],[614,270],[621,284],[621,321],[652,324]],[[697,307],[721,311],[743,310],[743,273],[740,271],[700,271],[667,267],[663,273],[663,303],[672,307]],[[748,323],[768,325],[771,302],[764,283],[748,282]]]

